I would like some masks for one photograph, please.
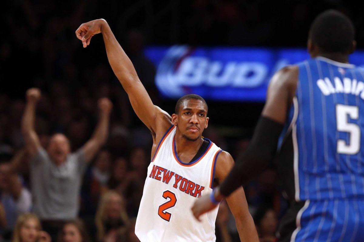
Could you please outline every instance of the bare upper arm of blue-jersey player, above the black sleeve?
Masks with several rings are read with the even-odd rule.
[[[281,124],[285,123],[289,105],[296,91],[297,78],[297,67],[285,67],[272,77],[262,116]]]

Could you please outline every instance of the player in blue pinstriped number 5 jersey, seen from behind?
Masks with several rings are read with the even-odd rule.
[[[273,76],[249,148],[214,193],[195,202],[195,217],[275,158],[290,200],[278,241],[364,241],[364,70],[348,63],[354,33],[340,12],[317,16],[311,59]]]

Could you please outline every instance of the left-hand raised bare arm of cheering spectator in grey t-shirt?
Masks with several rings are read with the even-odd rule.
[[[25,145],[31,157],[35,156],[40,148],[40,141],[37,133],[35,132],[35,109],[36,104],[40,100],[40,90],[31,88],[27,91],[27,103],[23,119],[21,120],[21,131],[24,136]]]

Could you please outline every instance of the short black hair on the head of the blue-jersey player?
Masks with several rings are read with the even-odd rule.
[[[313,20],[309,39],[317,44],[321,52],[349,54],[355,37],[352,21],[343,13],[330,9]]]

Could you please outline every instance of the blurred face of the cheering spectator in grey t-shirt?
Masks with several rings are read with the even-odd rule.
[[[67,159],[67,155],[70,153],[70,143],[63,134],[55,134],[52,136],[48,145],[48,154],[51,159],[60,165]]]

